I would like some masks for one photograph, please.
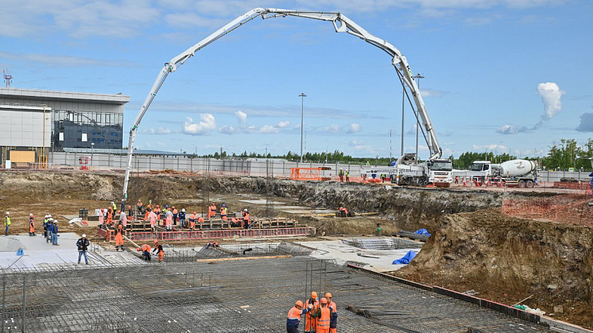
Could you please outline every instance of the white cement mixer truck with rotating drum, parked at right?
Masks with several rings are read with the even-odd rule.
[[[512,159],[501,164],[474,161],[467,170],[454,170],[453,177],[469,178],[479,185],[490,181],[505,186],[533,188],[537,185],[537,163],[527,159]]]

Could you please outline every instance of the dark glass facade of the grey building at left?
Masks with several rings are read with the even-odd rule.
[[[59,110],[52,112],[54,148],[121,149],[123,138],[124,114]]]

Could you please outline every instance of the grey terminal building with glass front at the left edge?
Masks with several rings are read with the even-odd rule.
[[[64,148],[121,149],[129,101],[121,94],[0,87],[0,164],[47,163],[49,151]]]

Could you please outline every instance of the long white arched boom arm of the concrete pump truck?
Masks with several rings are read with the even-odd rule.
[[[341,13],[323,13],[323,12],[315,12],[315,11],[294,11],[294,10],[287,10],[287,9],[276,9],[276,8],[255,8],[243,15],[235,18],[224,27],[220,28],[219,30],[212,33],[212,35],[205,37],[203,40],[194,44],[189,49],[186,49],[185,52],[179,54],[179,56],[174,57],[168,63],[164,64],[164,67],[161,69],[159,75],[157,76],[157,80],[155,80],[155,84],[152,85],[148,96],[144,100],[142,107],[140,107],[140,112],[134,121],[132,128],[130,130],[130,139],[128,142],[128,164],[126,167],[126,178],[124,179],[124,202],[128,198],[128,181],[130,178],[130,173],[132,169],[132,155],[133,155],[133,145],[134,139],[136,138],[136,134],[138,133],[138,126],[140,125],[140,121],[152,100],[155,99],[157,92],[162,87],[164,83],[164,79],[167,78],[169,73],[176,71],[179,66],[183,65],[185,61],[192,56],[196,55],[196,52],[203,49],[208,44],[218,40],[220,37],[227,35],[227,33],[239,28],[241,25],[248,23],[253,18],[257,18],[261,16],[263,19],[265,18],[277,18],[277,17],[285,17],[285,16],[297,16],[301,18],[313,18],[315,20],[325,20],[331,21],[333,23],[335,32],[347,32],[350,35],[359,37],[361,40],[368,42],[369,44],[382,49],[383,51],[387,52],[390,56],[392,56],[392,64],[397,71],[397,75],[400,76],[402,79],[402,84],[405,83],[412,94],[414,102],[416,104],[417,109],[414,110],[417,112],[417,116],[419,116],[419,121],[421,121],[423,128],[423,135],[426,139],[426,144],[429,146],[430,157],[429,159],[438,159],[441,158],[443,155],[443,151],[441,149],[441,145],[438,143],[438,138],[436,137],[436,132],[431,123],[431,119],[429,117],[429,113],[426,111],[426,107],[424,106],[424,100],[419,93],[418,86],[414,79],[412,78],[412,70],[409,68],[408,62],[405,56],[402,56],[400,50],[396,49],[392,44],[385,40],[381,40],[381,38],[377,38],[371,35],[369,32],[361,28],[359,25],[354,23],[354,21],[350,20],[346,16],[342,15]],[[404,86],[405,89],[405,86]],[[424,133],[426,130],[426,133]],[[122,202],[123,203],[123,202]]]

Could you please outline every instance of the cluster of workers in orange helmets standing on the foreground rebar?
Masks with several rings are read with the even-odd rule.
[[[325,293],[325,297],[318,299],[317,293],[313,291],[304,304],[296,301],[288,311],[287,333],[299,333],[301,315],[305,315],[305,333],[336,333],[337,305],[331,293]]]

